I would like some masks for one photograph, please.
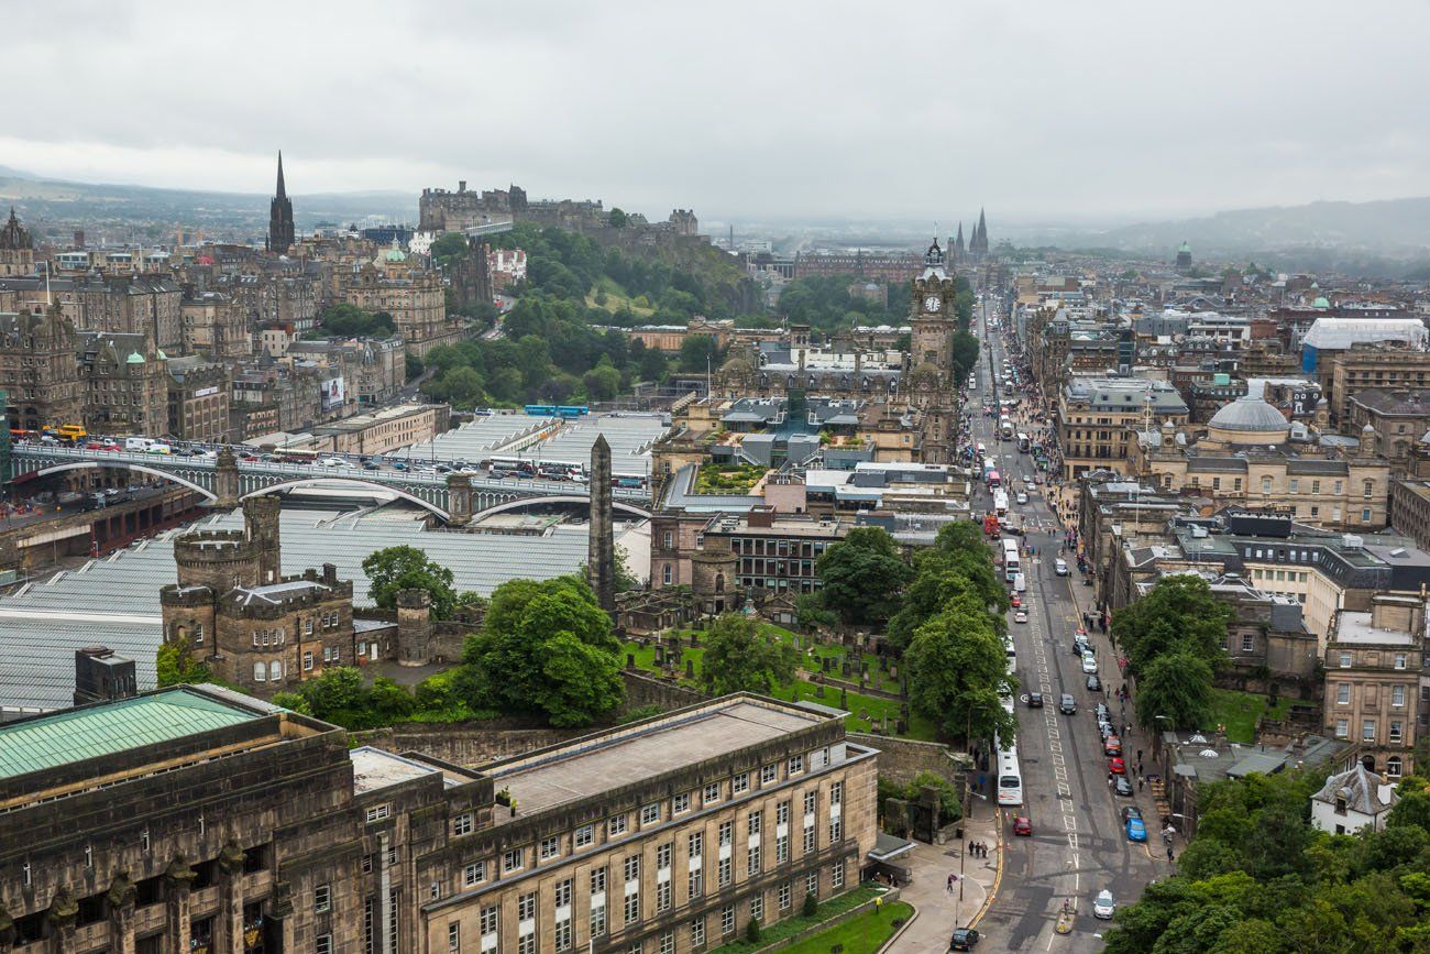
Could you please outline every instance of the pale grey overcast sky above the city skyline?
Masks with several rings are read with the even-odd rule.
[[[3,19],[0,164],[90,182],[266,193],[282,147],[299,195],[516,182],[661,217],[1430,193],[1424,0],[51,1]]]

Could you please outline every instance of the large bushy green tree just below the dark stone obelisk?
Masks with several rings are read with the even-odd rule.
[[[589,725],[621,705],[621,644],[583,579],[512,579],[492,594],[463,654],[470,707]]]

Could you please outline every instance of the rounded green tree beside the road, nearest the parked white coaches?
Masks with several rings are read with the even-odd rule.
[[[1014,738],[1018,719],[1002,708],[1002,697],[1015,682],[987,612],[952,608],[931,618],[914,634],[904,664],[909,708],[947,735]]]

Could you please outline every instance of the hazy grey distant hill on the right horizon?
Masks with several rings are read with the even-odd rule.
[[[1430,252],[1430,197],[1237,209],[1204,219],[1130,225],[1078,239],[1158,257],[1171,257],[1183,242],[1191,243],[1194,255],[1338,249],[1423,257]]]

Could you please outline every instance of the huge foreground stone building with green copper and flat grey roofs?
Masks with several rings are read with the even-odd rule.
[[[878,752],[732,695],[462,768],[217,687],[0,725],[0,948],[691,954],[859,882]]]

